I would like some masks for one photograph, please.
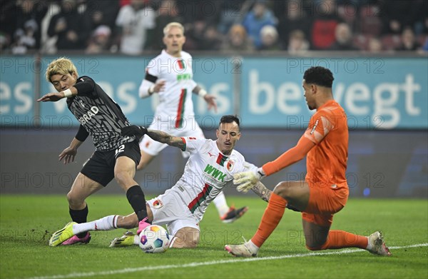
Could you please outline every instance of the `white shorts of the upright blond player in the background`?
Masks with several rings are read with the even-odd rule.
[[[176,128],[168,128],[168,126],[170,125],[166,123],[165,125],[161,125],[160,123],[152,123],[151,126],[148,127],[148,129],[163,131],[165,133],[169,133],[172,136],[180,136],[180,137],[193,136],[195,138],[205,138],[205,136],[203,136],[202,129],[199,127],[198,123],[196,122],[195,122],[195,125],[193,126],[188,125],[188,128],[186,127],[186,128],[176,129]],[[160,129],[160,128],[163,128],[163,129]],[[151,156],[157,156],[163,150],[163,148],[167,146],[168,144],[166,143],[153,141],[153,139],[151,139],[147,135],[144,135],[143,140],[140,141],[140,149]],[[184,158],[188,158],[188,156],[189,156],[188,152],[183,152]]]

